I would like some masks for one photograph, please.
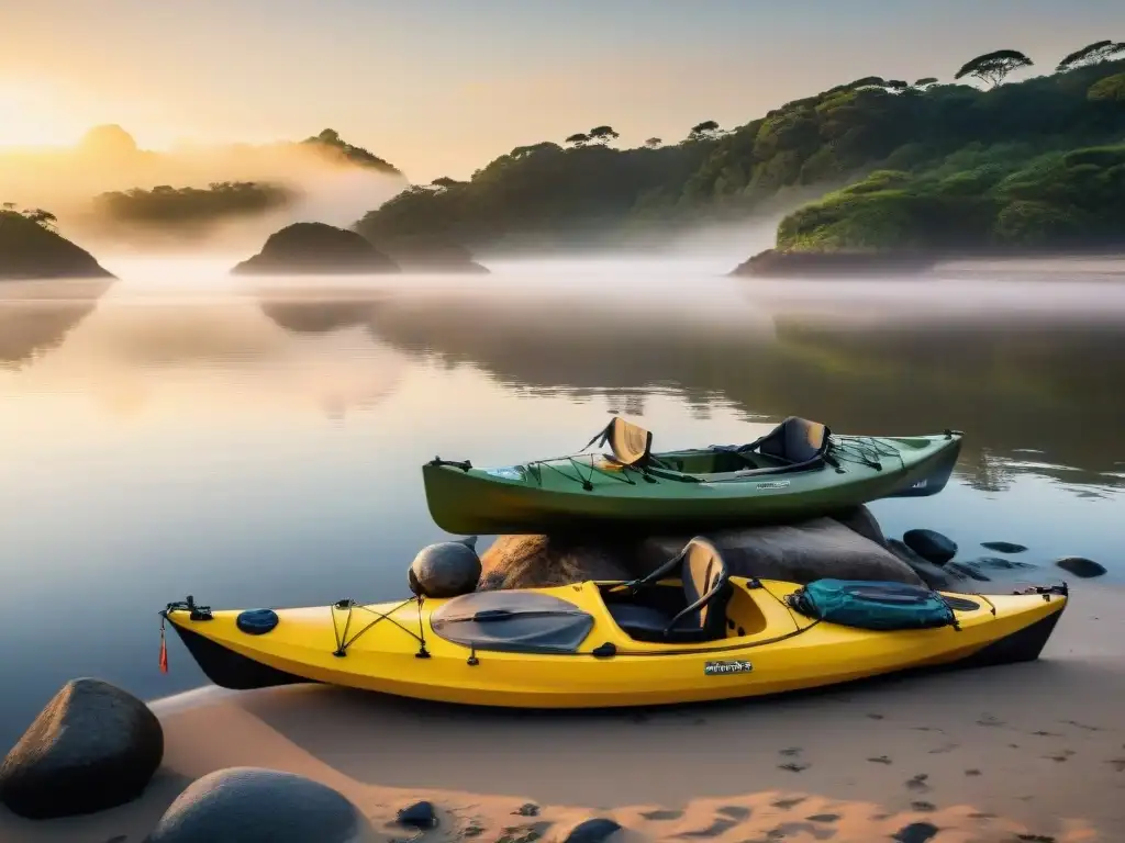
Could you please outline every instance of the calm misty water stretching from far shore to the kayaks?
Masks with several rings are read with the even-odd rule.
[[[420,465],[580,447],[609,411],[658,447],[964,429],[955,483],[874,506],[1125,579],[1125,284],[763,283],[726,264],[512,264],[490,278],[235,285],[218,264],[0,288],[0,746],[66,679],[202,683],[158,616],[406,593]]]

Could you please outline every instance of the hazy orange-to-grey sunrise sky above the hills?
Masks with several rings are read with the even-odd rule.
[[[1125,0],[2,0],[0,146],[119,123],[178,138],[331,126],[413,180],[598,124],[637,145],[865,75],[1036,72],[1125,40]]]

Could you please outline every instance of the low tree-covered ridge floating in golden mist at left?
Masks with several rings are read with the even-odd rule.
[[[174,227],[201,225],[230,217],[249,217],[285,207],[295,193],[276,184],[259,182],[215,182],[206,190],[134,188],[94,197],[94,209],[112,223]]]

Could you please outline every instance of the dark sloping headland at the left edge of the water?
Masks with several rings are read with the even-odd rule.
[[[47,219],[36,221],[34,212],[0,210],[0,280],[112,278],[93,255],[48,225]]]

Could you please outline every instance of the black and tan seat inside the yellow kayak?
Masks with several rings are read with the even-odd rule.
[[[684,598],[678,613],[672,615],[637,602],[608,604],[618,626],[638,641],[698,643],[726,637],[732,586],[727,563],[716,546],[696,536],[637,587],[677,575]]]

